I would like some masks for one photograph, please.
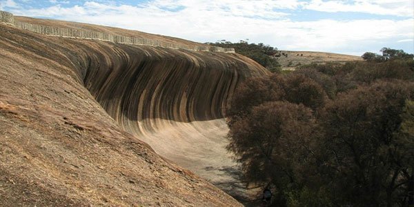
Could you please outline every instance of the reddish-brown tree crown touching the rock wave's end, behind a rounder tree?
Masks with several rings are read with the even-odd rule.
[[[231,120],[248,115],[253,106],[268,101],[288,101],[302,103],[312,109],[322,108],[326,98],[324,88],[319,83],[299,72],[252,78],[240,84],[235,91],[227,116],[231,117],[232,123]]]

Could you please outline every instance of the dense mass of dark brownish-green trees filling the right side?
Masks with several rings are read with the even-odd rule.
[[[412,59],[390,59],[250,79],[228,110],[228,149],[246,181],[276,186],[277,206],[408,206],[413,78]]]

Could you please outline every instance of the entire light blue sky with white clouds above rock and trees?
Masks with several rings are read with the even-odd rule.
[[[414,0],[0,0],[15,15],[279,50],[414,53]]]

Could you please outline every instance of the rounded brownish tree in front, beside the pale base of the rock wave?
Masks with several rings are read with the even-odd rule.
[[[314,126],[312,110],[302,104],[263,103],[230,126],[228,150],[247,181],[271,182],[280,190],[297,181],[295,168],[307,160]]]

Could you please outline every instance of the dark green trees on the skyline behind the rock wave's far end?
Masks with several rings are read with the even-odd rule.
[[[213,46],[219,46],[221,48],[235,48],[235,51],[250,59],[253,59],[260,65],[267,68],[270,72],[279,72],[281,70],[279,63],[273,55],[277,53],[277,48],[271,46],[265,46],[263,43],[247,43],[241,41],[240,43],[231,43],[229,41],[208,43]]]

